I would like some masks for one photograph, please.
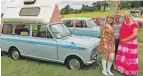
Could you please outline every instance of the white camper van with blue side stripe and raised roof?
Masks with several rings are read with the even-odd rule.
[[[1,50],[14,60],[23,56],[62,63],[69,69],[94,63],[99,39],[72,35],[63,23],[56,22],[60,20],[57,16],[53,17],[56,1],[43,1],[12,2],[2,18]]]

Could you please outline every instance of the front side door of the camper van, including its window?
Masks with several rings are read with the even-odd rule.
[[[30,55],[42,59],[57,60],[57,44],[46,26],[32,26],[30,44]]]

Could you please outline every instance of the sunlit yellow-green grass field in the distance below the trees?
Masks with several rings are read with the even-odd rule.
[[[121,10],[120,12],[123,14],[127,10]],[[63,18],[73,18],[73,17],[88,17],[88,18],[96,18],[96,17],[104,17],[109,14],[113,14],[115,11],[105,11],[105,12],[90,12],[90,13],[80,13],[80,14],[68,14],[63,15]]]

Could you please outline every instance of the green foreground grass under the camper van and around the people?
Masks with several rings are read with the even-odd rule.
[[[139,30],[139,75],[143,75],[143,28]],[[12,60],[7,55],[1,58],[2,76],[103,76],[101,65],[97,62],[87,66],[84,70],[68,70],[64,65],[38,61],[28,58]],[[115,76],[120,73],[113,70]]]

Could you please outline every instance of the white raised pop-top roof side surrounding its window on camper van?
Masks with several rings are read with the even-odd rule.
[[[57,3],[56,0],[36,0],[34,4],[26,5],[24,5],[24,1],[26,0],[13,0],[5,11],[2,21],[7,23],[49,23]],[[40,8],[37,16],[20,16],[20,11],[22,8],[33,7]]]

